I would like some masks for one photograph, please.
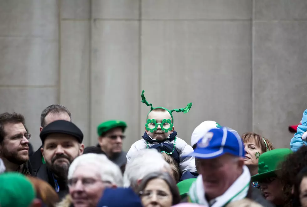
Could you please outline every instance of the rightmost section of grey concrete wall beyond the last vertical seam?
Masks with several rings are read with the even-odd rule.
[[[253,130],[289,147],[290,124],[307,109],[307,1],[253,7]]]

